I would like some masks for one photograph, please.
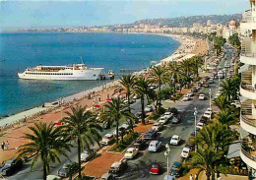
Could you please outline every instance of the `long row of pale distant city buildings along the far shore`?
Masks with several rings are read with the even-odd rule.
[[[208,20],[205,25],[194,23],[191,27],[168,27],[160,25],[136,24],[136,25],[115,25],[103,27],[69,27],[69,28],[51,28],[51,29],[28,29],[21,31],[69,31],[69,32],[125,32],[125,33],[216,33],[218,36],[228,38],[234,33],[239,33],[239,27],[234,20],[226,25],[214,24],[212,20]],[[245,33],[245,32],[244,32]]]

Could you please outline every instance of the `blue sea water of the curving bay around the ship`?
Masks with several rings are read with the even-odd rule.
[[[179,42],[151,34],[16,32],[0,33],[0,116],[96,87],[103,81],[20,80],[17,71],[78,63],[104,71],[143,69],[172,54]]]

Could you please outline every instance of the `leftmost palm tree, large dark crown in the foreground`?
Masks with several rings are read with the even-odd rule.
[[[43,179],[46,180],[47,172],[50,169],[50,162],[60,162],[59,155],[68,157],[66,150],[72,147],[69,139],[65,138],[62,127],[54,128],[54,124],[35,123],[29,127],[32,133],[25,134],[30,143],[20,147],[19,157],[32,155],[32,167],[38,158],[42,161]]]

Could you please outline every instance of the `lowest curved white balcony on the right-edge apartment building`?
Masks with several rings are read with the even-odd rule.
[[[247,136],[241,140],[240,156],[250,167],[256,169],[256,145],[255,137]]]

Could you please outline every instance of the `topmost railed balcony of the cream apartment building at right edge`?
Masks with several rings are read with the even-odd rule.
[[[256,42],[251,38],[242,39],[240,55],[242,63],[256,65]]]

